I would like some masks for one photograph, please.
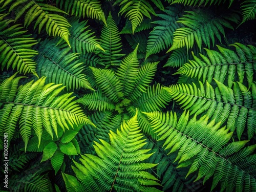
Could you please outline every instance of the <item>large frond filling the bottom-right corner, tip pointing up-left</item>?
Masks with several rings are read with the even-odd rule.
[[[225,188],[227,191],[233,191],[234,188],[237,191],[251,191],[256,187],[255,175],[251,173],[256,156],[250,155],[256,145],[244,147],[248,141],[227,145],[232,132],[220,127],[220,123],[215,124],[214,120],[208,122],[207,116],[198,120],[195,116],[189,121],[187,112],[179,120],[176,113],[172,112],[145,114],[152,121],[154,131],[160,137],[158,140],[164,140],[165,151],[168,154],[178,152],[175,159],[179,164],[177,168],[189,166],[187,176],[197,172],[195,181],[204,178],[204,182],[213,176],[211,190],[219,182],[222,191]],[[244,183],[243,178],[252,182],[241,184]]]

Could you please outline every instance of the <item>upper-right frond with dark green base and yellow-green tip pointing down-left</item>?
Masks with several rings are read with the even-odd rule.
[[[224,27],[233,29],[229,21],[237,22],[238,20],[236,14],[233,14],[232,17],[234,18],[231,18],[231,16],[214,15],[212,12],[205,10],[199,12],[187,11],[187,13],[177,22],[186,27],[179,28],[174,32],[173,45],[167,52],[185,46],[188,50],[194,46],[195,41],[200,50],[203,43],[209,49],[211,42],[213,46],[215,45],[216,37],[221,42],[221,34],[225,36]]]

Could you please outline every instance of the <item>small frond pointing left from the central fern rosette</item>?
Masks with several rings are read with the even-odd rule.
[[[76,100],[77,103],[81,103],[87,106],[89,110],[112,111],[115,109],[115,105],[108,97],[104,96],[100,90],[86,94],[83,97]]]

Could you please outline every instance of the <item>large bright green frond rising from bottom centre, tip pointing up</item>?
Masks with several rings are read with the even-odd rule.
[[[74,161],[75,167],[72,168],[78,180],[74,182],[74,177],[62,174],[66,185],[71,184],[75,191],[81,185],[86,191],[160,191],[151,187],[160,185],[157,178],[145,172],[156,164],[141,162],[152,154],[147,154],[150,150],[140,149],[146,143],[139,133],[137,114],[124,122],[120,131],[110,132],[109,136],[110,143],[104,140],[100,140],[101,144],[95,142],[97,156],[81,156],[82,164]]]

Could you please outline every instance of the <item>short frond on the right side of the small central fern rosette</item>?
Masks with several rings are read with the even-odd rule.
[[[156,86],[149,87],[146,93],[142,93],[134,106],[144,112],[160,111],[169,101],[170,96],[158,83]]]

